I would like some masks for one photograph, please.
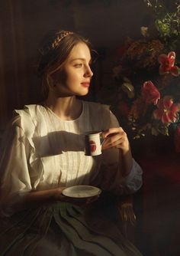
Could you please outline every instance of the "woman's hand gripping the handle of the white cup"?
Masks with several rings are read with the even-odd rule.
[[[118,148],[122,149],[123,153],[127,153],[130,150],[130,143],[127,139],[127,133],[124,132],[122,127],[110,128],[102,132],[104,143],[102,144],[102,150]]]

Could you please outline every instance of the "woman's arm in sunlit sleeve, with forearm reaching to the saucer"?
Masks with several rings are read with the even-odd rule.
[[[31,123],[28,124],[31,127]],[[1,215],[9,216],[26,208],[37,208],[61,201],[63,188],[43,191],[32,188],[27,163],[32,148],[21,127],[21,117],[13,118],[3,139],[0,156]]]

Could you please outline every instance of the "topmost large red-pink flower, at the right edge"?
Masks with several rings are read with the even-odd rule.
[[[160,63],[159,74],[169,74],[173,76],[178,76],[178,67],[175,66],[175,51],[169,52],[168,55],[159,55],[158,61]]]

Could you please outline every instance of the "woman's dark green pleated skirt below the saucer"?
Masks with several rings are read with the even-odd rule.
[[[61,202],[2,218],[0,255],[141,256],[121,234],[114,209]]]

